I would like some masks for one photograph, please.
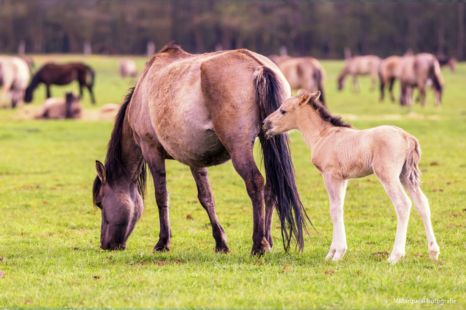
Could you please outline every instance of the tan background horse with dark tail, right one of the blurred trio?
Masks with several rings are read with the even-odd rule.
[[[400,80],[400,104],[412,106],[413,89],[418,87],[422,99],[422,106],[426,104],[425,86],[429,79],[435,92],[435,106],[440,106],[443,89],[443,76],[439,61],[429,53],[416,56],[404,56],[397,68],[397,78]]]

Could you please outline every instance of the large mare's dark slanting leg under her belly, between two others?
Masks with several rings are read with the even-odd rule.
[[[196,181],[198,187],[198,198],[204,209],[209,215],[210,223],[212,225],[212,235],[215,239],[215,253],[217,252],[230,252],[228,245],[226,245],[226,235],[222,226],[219,223],[217,214],[215,214],[215,201],[213,199],[212,190],[210,188],[209,176],[207,175],[207,168],[192,168],[192,176]]]

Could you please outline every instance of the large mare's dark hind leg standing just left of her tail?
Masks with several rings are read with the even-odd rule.
[[[264,177],[260,174],[254,161],[253,150],[241,149],[232,155],[236,172],[246,183],[246,190],[253,203],[253,249],[251,255],[263,254],[271,247],[266,239],[264,214]]]

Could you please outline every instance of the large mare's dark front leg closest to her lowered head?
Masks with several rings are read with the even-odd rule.
[[[170,251],[171,229],[170,217],[168,216],[168,190],[165,172],[165,159],[159,154],[144,154],[144,158],[154,179],[155,200],[158,207],[158,218],[160,221],[160,232],[158,242],[154,251]]]

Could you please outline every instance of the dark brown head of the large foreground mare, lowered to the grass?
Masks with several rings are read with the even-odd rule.
[[[102,225],[100,247],[103,250],[124,250],[126,240],[141,218],[144,202],[139,180],[131,181],[126,174],[117,177],[108,173],[105,166],[96,160],[97,177],[92,187],[94,204],[101,210]],[[145,167],[144,182],[145,182]],[[139,181],[139,182],[138,182]]]

